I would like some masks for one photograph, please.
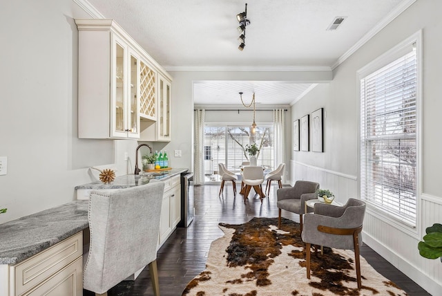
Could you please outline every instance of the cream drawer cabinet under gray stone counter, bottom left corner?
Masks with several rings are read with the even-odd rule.
[[[16,265],[0,265],[0,295],[82,295],[83,234]]]

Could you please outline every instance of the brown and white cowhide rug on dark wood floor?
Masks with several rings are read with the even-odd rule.
[[[253,218],[241,225],[220,223],[224,237],[211,243],[206,269],[182,295],[406,295],[361,257],[357,289],[352,250],[324,248],[311,256],[311,279],[305,268],[305,243],[298,223]]]

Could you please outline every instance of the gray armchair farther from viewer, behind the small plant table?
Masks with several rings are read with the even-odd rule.
[[[316,198],[319,183],[310,181],[296,181],[294,187],[280,188],[276,192],[279,209],[278,228],[281,228],[281,209],[299,214],[300,228],[302,231],[302,214],[305,214],[305,201]]]

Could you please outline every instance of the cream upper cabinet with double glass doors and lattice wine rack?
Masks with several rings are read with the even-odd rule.
[[[157,76],[165,77],[170,91],[170,75],[115,21],[75,19],[75,23],[79,138],[139,139],[140,120],[155,124],[159,117]]]

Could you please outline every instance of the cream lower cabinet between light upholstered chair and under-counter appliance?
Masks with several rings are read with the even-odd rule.
[[[171,235],[181,220],[181,183],[180,176],[164,181],[164,196],[160,219],[160,241],[158,248]]]

